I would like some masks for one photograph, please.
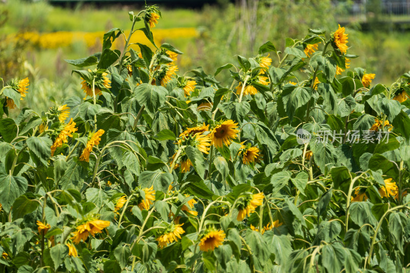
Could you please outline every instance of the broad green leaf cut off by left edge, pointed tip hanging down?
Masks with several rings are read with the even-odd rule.
[[[27,191],[27,186],[27,180],[22,176],[0,174],[0,200],[5,212],[10,212],[17,197]]]

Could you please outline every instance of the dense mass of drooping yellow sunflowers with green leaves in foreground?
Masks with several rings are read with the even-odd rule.
[[[84,98],[11,118],[2,80],[0,272],[408,271],[410,72],[372,85],[339,26],[178,75],[129,18],[66,60]]]

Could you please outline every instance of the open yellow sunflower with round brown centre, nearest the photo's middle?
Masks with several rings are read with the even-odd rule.
[[[231,140],[238,138],[239,133],[238,123],[233,120],[225,120],[221,124],[216,125],[216,127],[211,131],[211,145],[215,145],[216,148],[221,148],[223,144],[229,146]]]

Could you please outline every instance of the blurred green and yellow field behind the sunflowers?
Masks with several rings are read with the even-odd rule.
[[[394,1],[401,3],[399,12],[392,3],[220,0],[212,5],[173,8],[168,2],[158,5],[162,18],[153,34],[157,44],[168,42],[184,52],[177,61],[180,74],[199,66],[211,74],[234,62],[236,54],[256,55],[265,41],[271,40],[283,50],[286,37],[301,39],[308,28],[330,33],[341,23],[349,34],[349,53],[360,55],[351,66],[366,68],[376,74],[376,82],[390,85],[409,70],[410,60],[410,1]],[[129,30],[128,11],[143,8],[129,2],[66,7],[46,1],[1,0],[0,77],[9,81],[28,76],[29,94],[23,106],[39,112],[53,101],[81,96],[80,80],[71,76],[74,67],[64,59],[100,51],[105,31],[113,27]],[[136,33],[133,42],[148,44],[142,32]],[[124,43],[119,40],[116,47],[122,50]],[[276,56],[271,57],[277,64]],[[229,78],[228,71],[217,76],[226,85],[231,83]]]

